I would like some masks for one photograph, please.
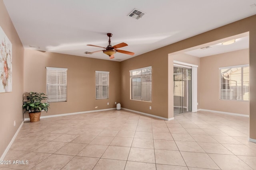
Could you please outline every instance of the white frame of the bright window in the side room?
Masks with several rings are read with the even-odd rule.
[[[242,64],[242,65],[236,65],[236,66],[227,66],[227,67],[220,67],[219,68],[219,100],[223,100],[223,101],[237,101],[237,102],[249,102],[250,101],[250,79],[249,79],[249,75],[250,75],[250,68],[248,68],[249,69],[249,72],[248,72],[248,100],[244,100],[244,95],[242,95],[242,92],[244,92],[244,88],[242,88],[242,86],[244,87],[244,72],[243,72],[243,70],[244,70],[244,68],[245,67],[249,67],[249,64]],[[238,89],[238,91],[236,91],[236,99],[230,99],[231,98],[231,96],[232,96],[232,94],[231,94],[231,90],[229,91],[229,92],[226,92],[226,95],[229,95],[230,97],[229,97],[229,99],[227,98],[227,96],[226,97],[223,97],[223,96],[225,96],[224,94],[223,94],[223,90],[224,89],[229,89],[231,86],[229,86],[229,87],[227,87],[226,88],[226,86],[225,86],[225,84],[223,84],[222,82],[223,82],[223,80],[222,80],[222,70],[223,69],[232,69],[232,68],[241,68],[241,73],[240,73],[240,76],[241,76],[241,88],[240,89]],[[230,81],[234,81],[234,80],[230,80]],[[230,82],[228,82],[228,84],[230,84]],[[225,88],[223,88],[225,86]],[[240,91],[239,91],[240,90]],[[239,94],[239,92],[240,92],[240,94]],[[239,97],[241,98],[241,99],[239,99]]]

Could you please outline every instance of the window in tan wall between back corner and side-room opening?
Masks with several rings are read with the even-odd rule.
[[[130,70],[131,99],[151,101],[152,66]]]

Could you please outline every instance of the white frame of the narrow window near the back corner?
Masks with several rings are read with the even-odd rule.
[[[97,80],[97,77],[99,77],[98,74],[105,74],[105,76],[107,77],[107,80]],[[101,78],[103,78],[103,76],[101,76]],[[98,81],[98,84],[97,84]],[[103,85],[102,83],[106,82],[106,85]],[[99,84],[100,83],[100,84]],[[99,92],[99,88],[100,86],[102,86],[102,92]],[[104,86],[106,86],[106,90],[107,92],[104,93]],[[106,96],[104,95],[106,94]],[[100,96],[99,96],[100,95]],[[95,99],[96,100],[101,100],[101,99],[109,99],[109,71],[95,71]]]

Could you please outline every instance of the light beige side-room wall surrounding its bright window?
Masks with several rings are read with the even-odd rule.
[[[249,102],[219,100],[219,67],[249,64],[249,49],[200,58],[201,109],[249,115]]]

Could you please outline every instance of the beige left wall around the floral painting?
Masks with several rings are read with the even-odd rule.
[[[24,49],[12,21],[0,0],[0,26],[12,43],[12,92],[0,93],[0,157],[23,121]],[[14,120],[16,126],[14,127]]]

